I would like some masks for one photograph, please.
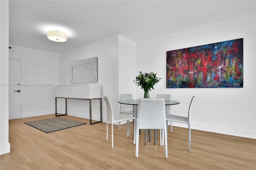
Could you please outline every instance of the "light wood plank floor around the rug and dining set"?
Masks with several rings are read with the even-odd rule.
[[[173,127],[173,132],[170,132],[169,126],[167,159],[159,138],[158,145],[154,145],[152,140],[145,146],[143,134],[139,138],[139,157],[136,158],[132,136],[126,137],[126,124],[122,125],[121,131],[114,125],[112,149],[111,126],[109,140],[106,140],[106,123],[90,125],[88,119],[64,116],[87,124],[50,133],[24,123],[52,117],[55,116],[9,121],[11,152],[0,156],[1,170],[256,169],[256,140],[250,138],[192,130],[189,151],[187,128]]]

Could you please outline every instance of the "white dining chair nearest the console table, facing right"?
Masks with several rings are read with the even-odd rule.
[[[106,134],[106,139],[108,140],[108,122],[110,122],[111,123],[111,147],[114,148],[113,124],[118,123],[118,122],[122,122],[122,121],[126,121],[127,122],[127,137],[129,137],[129,131],[130,131],[129,122],[130,122],[130,120],[134,120],[136,118],[132,117],[130,115],[127,115],[127,114],[114,116],[110,100],[108,99],[107,96],[104,96],[103,98],[106,102],[106,107],[107,107],[107,122],[106,122],[106,124],[107,124],[107,134]]]

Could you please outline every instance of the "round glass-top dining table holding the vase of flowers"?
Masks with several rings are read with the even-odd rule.
[[[132,116],[137,118],[138,115],[138,105],[140,99],[130,99],[130,100],[120,100],[118,103],[124,105],[133,105],[133,113]],[[166,100],[164,99],[165,105],[178,105],[180,104],[179,101],[175,100]],[[133,121],[133,143],[136,144],[136,119]],[[147,139],[145,138],[145,145],[147,143]],[[156,130],[155,130],[155,144],[156,144]]]

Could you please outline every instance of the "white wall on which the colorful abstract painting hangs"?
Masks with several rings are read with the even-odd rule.
[[[256,138],[255,19],[255,14],[240,16],[137,43],[137,72],[154,71],[163,78],[150,97],[172,94],[173,100],[181,102],[172,106],[173,114],[186,116],[195,95],[193,129]],[[237,38],[244,38],[243,88],[166,89],[166,51]],[[137,98],[142,96],[143,91],[137,88]]]

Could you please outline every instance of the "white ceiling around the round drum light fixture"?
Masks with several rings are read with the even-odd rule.
[[[140,42],[255,10],[255,0],[10,0],[9,43],[63,53],[117,34]],[[48,40],[49,30],[68,40]]]

